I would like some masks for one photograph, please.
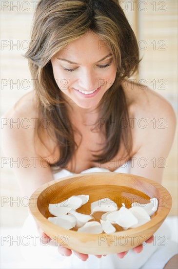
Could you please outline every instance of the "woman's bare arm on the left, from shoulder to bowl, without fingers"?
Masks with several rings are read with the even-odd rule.
[[[6,112],[2,118],[9,122],[1,129],[1,144],[4,155],[11,160],[22,195],[30,198],[40,185],[53,179],[47,159],[41,158],[35,151],[34,132],[36,126],[34,126],[33,120],[35,117],[32,113],[22,113],[12,109]],[[25,118],[30,122],[29,128],[24,128],[23,124],[20,124]],[[19,124],[12,124],[12,120]],[[18,164],[15,163],[16,161]]]

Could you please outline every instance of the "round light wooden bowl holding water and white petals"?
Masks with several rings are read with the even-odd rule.
[[[53,216],[49,213],[49,203],[62,202],[72,195],[89,195],[89,201],[77,211],[90,214],[91,202],[110,198],[127,208],[132,202],[146,203],[149,199],[158,199],[158,210],[151,221],[137,228],[123,230],[113,234],[86,234],[77,230],[61,228],[47,220]],[[157,182],[130,174],[115,172],[97,172],[76,174],[59,180],[52,180],[37,189],[30,198],[30,211],[41,229],[63,247],[84,254],[111,254],[127,251],[149,239],[162,224],[172,205],[170,193]],[[99,218],[102,214],[94,213]],[[118,226],[118,225],[117,225]],[[119,227],[119,226],[118,226]],[[74,229],[74,228],[73,228]]]

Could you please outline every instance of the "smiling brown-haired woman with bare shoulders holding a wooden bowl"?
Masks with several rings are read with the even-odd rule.
[[[34,90],[4,117],[20,122],[28,118],[30,128],[3,129],[5,154],[31,160],[28,167],[14,168],[25,196],[53,180],[56,169],[62,177],[63,171],[81,173],[93,167],[120,172],[126,165],[130,174],[161,182],[164,165],[159,158],[169,154],[176,117],[163,97],[128,80],[140,60],[136,37],[118,0],[40,0],[25,57]],[[154,118],[164,119],[163,128],[153,126]],[[147,268],[144,264],[157,251],[157,260],[164,254],[158,268],[174,268],[175,247],[167,242],[164,253],[138,246],[129,251],[130,259],[118,259],[127,253],[107,255],[100,266]],[[72,253],[61,246],[59,252]],[[136,252],[142,253],[141,259]],[[75,254],[83,261],[88,258]],[[89,260],[96,268],[93,257]],[[146,266],[156,268],[154,262]]]

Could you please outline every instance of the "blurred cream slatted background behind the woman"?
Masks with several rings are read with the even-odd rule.
[[[23,54],[28,49],[37,3],[38,0],[6,0],[0,3],[1,117],[22,95],[33,89]],[[139,74],[133,79],[165,97],[178,115],[178,1],[120,0],[120,5],[136,34],[140,57],[143,56]],[[173,197],[170,216],[178,215],[177,148],[176,133],[162,182]],[[18,234],[28,215],[28,203],[21,197],[10,162],[4,164],[3,157],[1,152],[1,227],[3,234],[9,234],[9,231]],[[3,264],[3,268],[16,268],[6,266],[13,265]]]

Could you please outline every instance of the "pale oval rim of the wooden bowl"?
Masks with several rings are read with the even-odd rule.
[[[123,231],[117,231],[117,232],[114,232],[114,233],[110,233],[110,234],[106,234],[106,233],[100,233],[100,234],[89,234],[89,233],[83,233],[83,232],[78,232],[78,231],[74,231],[74,230],[67,230],[65,228],[62,228],[56,224],[53,224],[51,222],[49,222],[47,220],[47,218],[45,218],[43,216],[43,214],[40,212],[38,206],[37,206],[37,201],[39,199],[39,196],[40,194],[45,190],[47,189],[48,187],[50,187],[51,185],[54,185],[56,183],[59,183],[60,181],[63,181],[63,180],[68,180],[68,179],[72,179],[72,178],[78,178],[78,177],[82,177],[82,176],[90,176],[90,175],[94,175],[94,174],[100,174],[102,176],[106,174],[106,172],[91,172],[91,173],[83,173],[83,174],[74,174],[74,175],[70,175],[70,176],[67,176],[67,177],[63,177],[63,178],[59,178],[59,179],[53,179],[51,181],[48,181],[46,183],[44,183],[43,185],[41,185],[39,188],[37,188],[31,195],[30,197],[30,202],[29,202],[29,210],[30,210],[30,213],[31,215],[36,219],[36,221],[38,223],[40,223],[41,221],[44,223],[44,224],[47,224],[48,226],[51,226],[53,229],[58,229],[61,233],[65,234],[65,232],[67,231],[67,234],[68,236],[74,236],[74,235],[78,235],[78,237],[80,236],[88,236],[90,235],[90,238],[92,240],[95,239],[96,237],[99,237],[99,236],[117,236],[117,237],[122,237],[122,236],[125,236],[125,234],[127,233],[127,236],[134,236],[134,234],[138,234],[138,232],[140,232],[140,227],[141,227],[141,232],[144,232],[145,230],[147,230],[148,228],[152,228],[154,227],[155,225],[159,225],[159,223],[162,223],[165,218],[167,217],[167,215],[169,214],[170,212],[170,209],[172,207],[172,197],[171,197],[171,194],[169,193],[169,191],[163,187],[161,184],[159,184],[158,182],[152,180],[152,179],[147,179],[147,178],[144,178],[144,177],[141,177],[141,176],[137,176],[137,175],[132,175],[132,174],[125,174],[125,173],[117,173],[117,172],[107,172],[110,173],[110,174],[117,174],[118,176],[119,175],[123,175],[123,176],[129,176],[130,178],[136,178],[137,180],[142,180],[142,181],[145,181],[151,185],[153,185],[155,188],[158,189],[158,191],[160,192],[160,194],[162,194],[162,197],[165,196],[165,193],[166,193],[166,197],[165,197],[165,203],[167,200],[169,200],[169,203],[166,203],[166,206],[164,206],[164,210],[161,209],[161,206],[158,207],[160,208],[160,210],[158,211],[158,213],[156,214],[156,216],[154,216],[154,218],[152,218],[149,222],[145,223],[145,224],[142,224],[136,228],[131,228],[131,229],[127,229],[127,230],[123,230]],[[164,196],[163,196],[163,193],[164,193]],[[34,199],[35,199],[35,205],[34,205]],[[33,200],[33,202],[32,202]],[[161,214],[163,215],[161,218],[159,218],[160,216],[160,212]],[[148,227],[149,225],[149,227]]]

